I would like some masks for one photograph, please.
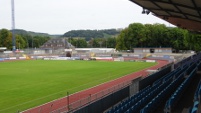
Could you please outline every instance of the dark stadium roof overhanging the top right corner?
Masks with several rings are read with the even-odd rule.
[[[201,32],[201,0],[130,0],[180,28]]]

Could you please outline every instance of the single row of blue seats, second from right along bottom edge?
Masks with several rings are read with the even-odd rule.
[[[165,113],[171,113],[171,110],[174,108],[174,106],[177,104],[178,100],[182,96],[182,93],[185,91],[185,89],[188,87],[190,82],[192,81],[195,73],[196,68],[190,73],[189,77],[177,88],[177,90],[173,93],[173,95],[168,99],[168,101],[165,104],[164,111]]]

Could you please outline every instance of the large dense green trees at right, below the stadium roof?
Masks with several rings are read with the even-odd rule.
[[[164,24],[133,23],[121,31],[116,40],[117,50],[134,47],[172,47],[175,50],[201,50],[201,35]]]

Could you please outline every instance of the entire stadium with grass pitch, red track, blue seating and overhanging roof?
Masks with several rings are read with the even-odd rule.
[[[131,2],[178,27],[201,30],[199,1]],[[65,39],[56,42],[73,46]],[[49,43],[28,51],[0,48],[0,113],[201,112],[200,52],[172,53],[171,47],[51,50],[45,48]]]

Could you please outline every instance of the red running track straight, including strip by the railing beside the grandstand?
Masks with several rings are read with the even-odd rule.
[[[158,62],[158,64],[153,67],[150,67],[150,68],[141,70],[139,72],[135,72],[135,73],[123,76],[121,78],[115,79],[113,81],[106,82],[104,84],[77,92],[68,97],[63,97],[61,99],[54,100],[54,101],[48,102],[46,104],[28,109],[26,111],[23,111],[23,113],[49,113],[49,112],[53,112],[53,111],[58,113],[58,111],[61,112],[61,111],[66,111],[70,108],[79,107],[78,104],[81,104],[81,101],[79,101],[79,100],[82,100],[82,103],[89,102],[89,99],[90,99],[90,101],[95,100],[98,97],[103,96],[104,91],[108,92],[108,89],[109,89],[109,91],[111,92],[111,91],[115,90],[115,87],[119,88],[120,86],[118,84],[126,85],[126,83],[128,84],[129,82],[131,82],[131,80],[133,80],[135,78],[138,78],[141,76],[146,77],[148,74],[146,72],[146,70],[148,70],[148,69],[155,70],[155,69],[158,69],[158,68],[163,67],[168,64],[167,61],[157,61],[157,62]],[[98,93],[98,92],[101,92],[101,93]],[[95,95],[95,97],[94,97],[94,95]],[[75,104],[72,104],[72,103],[75,103]],[[69,105],[69,104],[72,104],[72,106],[70,106],[70,108],[67,107],[67,105]],[[63,109],[60,109],[60,108],[63,108]],[[58,110],[58,109],[60,109],[60,110]]]

